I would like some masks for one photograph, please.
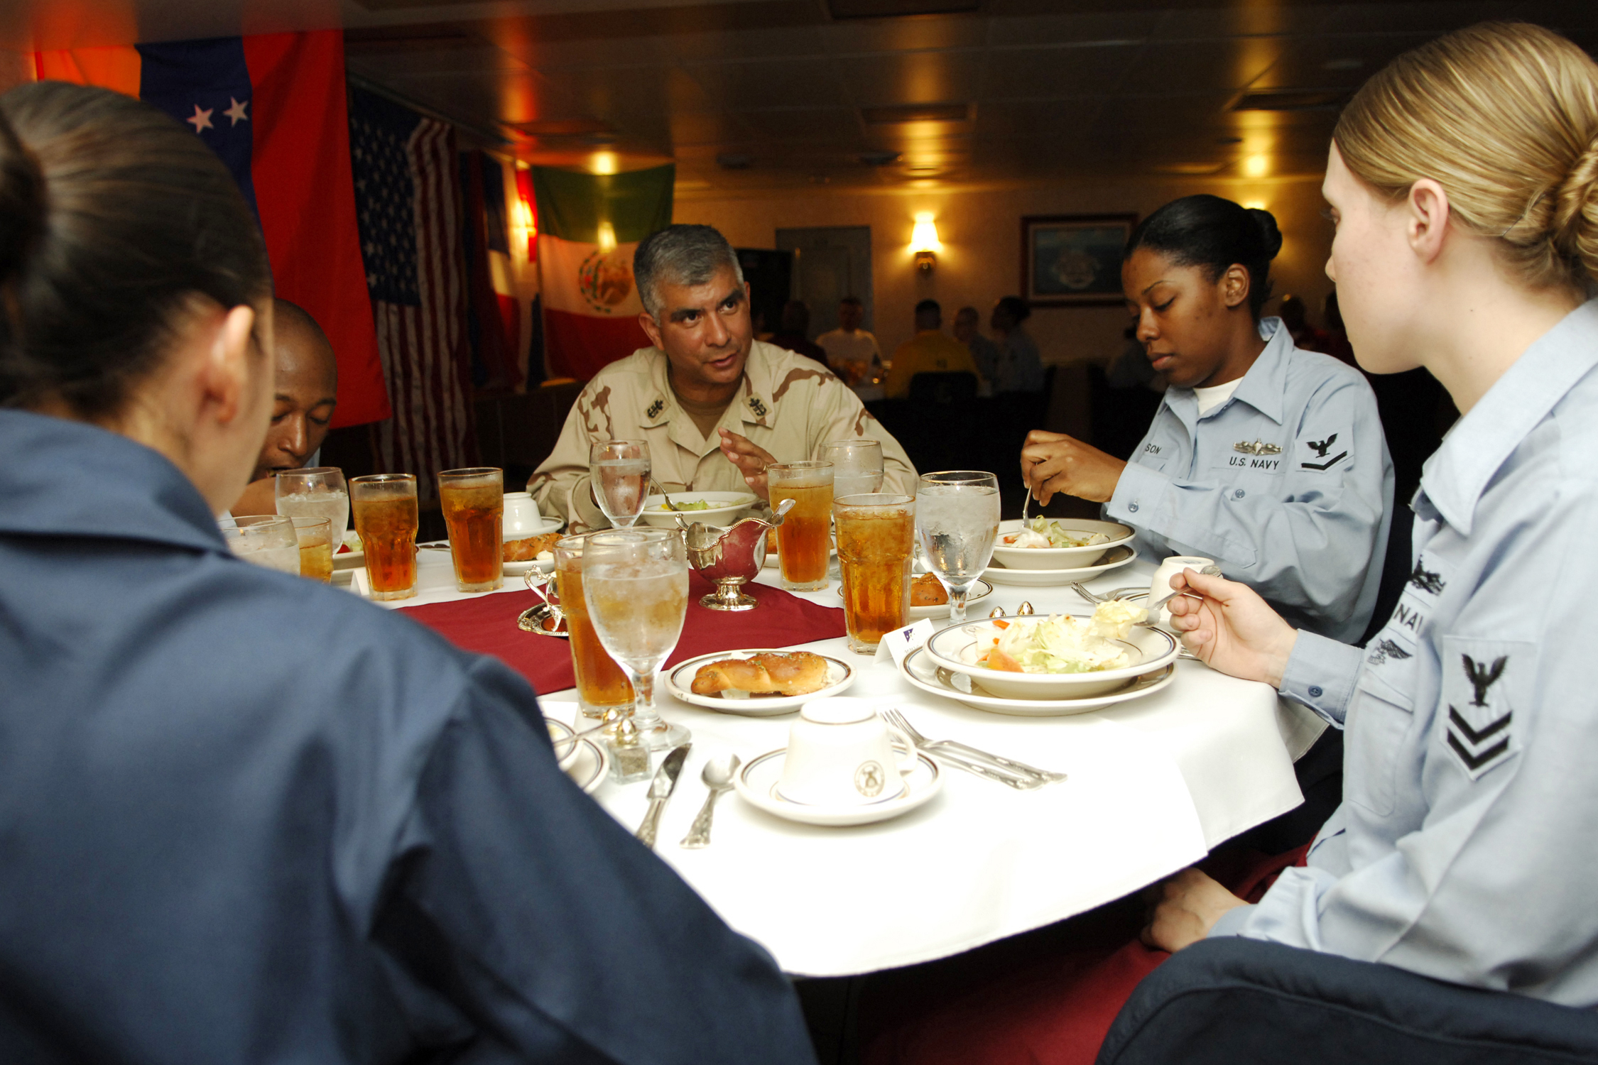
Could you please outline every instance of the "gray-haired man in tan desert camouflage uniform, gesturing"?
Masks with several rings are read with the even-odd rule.
[[[599,370],[527,490],[574,532],[609,524],[588,490],[594,441],[644,439],[668,492],[754,492],[765,466],[820,458],[828,441],[882,441],[884,492],[914,495],[898,441],[825,366],[754,340],[738,257],[708,225],[671,225],[633,254],[654,346]]]

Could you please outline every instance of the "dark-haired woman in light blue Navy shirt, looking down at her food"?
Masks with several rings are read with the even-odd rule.
[[[1214,559],[1288,621],[1339,640],[1369,624],[1393,468],[1365,377],[1261,318],[1282,233],[1267,211],[1183,196],[1138,224],[1122,289],[1165,401],[1131,461],[1034,431],[1037,498],[1104,503],[1149,560]]]

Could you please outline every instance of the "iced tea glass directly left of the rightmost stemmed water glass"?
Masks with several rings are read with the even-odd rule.
[[[837,564],[844,575],[849,650],[874,655],[882,637],[909,624],[916,500],[909,495],[845,495],[833,500]]]

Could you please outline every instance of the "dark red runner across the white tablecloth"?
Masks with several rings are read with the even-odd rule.
[[[818,607],[770,584],[745,584],[745,594],[761,605],[727,613],[698,605],[700,596],[710,591],[710,581],[689,573],[689,612],[682,623],[682,639],[666,659],[668,666],[711,651],[789,647],[844,635],[842,608]],[[531,680],[537,691],[561,691],[577,683],[567,642],[516,628],[521,612],[539,602],[534,592],[500,592],[401,610],[436,629],[455,647],[499,658]]]

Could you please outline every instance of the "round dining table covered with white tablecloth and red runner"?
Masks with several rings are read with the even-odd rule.
[[[1136,559],[1085,586],[1098,592],[1146,586],[1155,562]],[[361,576],[352,584],[356,594]],[[778,584],[775,567],[762,570],[759,583]],[[725,647],[713,650],[762,647],[762,612],[777,621],[783,605],[794,607],[773,588],[756,591],[761,607],[714,620],[724,626],[718,632]],[[682,703],[657,683],[660,714],[692,731],[692,749],[660,819],[655,853],[793,976],[853,976],[930,961],[1064,920],[1155,883],[1302,802],[1293,760],[1323,723],[1269,685],[1178,659],[1171,683],[1143,698],[1066,717],[1010,717],[912,687],[885,653],[850,653],[836,580],[793,596],[836,613],[836,635],[797,647],[849,663],[855,680],[847,695],[898,709],[928,739],[957,739],[1066,776],[1015,790],[943,765],[941,790],[930,802],[855,827],[799,824],[727,792],[710,846],[687,849],[679,841],[708,794],[700,778],[706,760],[735,754],[748,763],[783,749],[796,712],[719,712]],[[566,653],[564,640],[511,632],[523,602],[537,600],[521,576],[507,576],[499,592],[455,592],[449,552],[422,549],[419,596],[382,605],[409,610],[471,650],[487,647],[531,677],[550,677],[529,674],[523,653],[535,648],[548,659]],[[994,607],[1013,616],[1023,602],[1037,613],[1093,610],[1063,583],[996,580],[970,618],[986,618]],[[812,631],[818,620],[821,629],[833,626],[831,613],[802,610]],[[698,624],[695,612],[710,613],[690,605],[689,629]],[[483,643],[484,626],[497,642]],[[547,717],[588,723],[570,688],[540,690],[539,703]],[[647,795],[647,781],[606,779],[593,792],[628,830],[644,819]]]

